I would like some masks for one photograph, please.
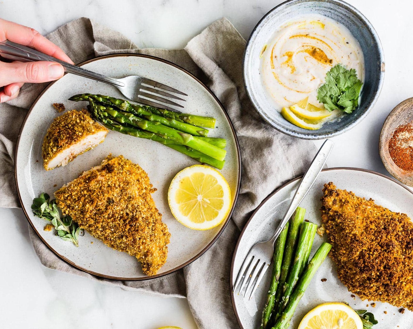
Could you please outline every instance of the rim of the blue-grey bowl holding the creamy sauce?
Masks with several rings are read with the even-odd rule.
[[[375,92],[375,96],[373,98],[372,101],[370,101],[369,105],[368,105],[368,109],[365,113],[363,113],[357,120],[355,121],[351,121],[349,123],[349,125],[347,125],[346,127],[344,127],[344,129],[342,130],[337,130],[337,131],[333,131],[330,133],[324,133],[324,134],[320,134],[320,135],[307,135],[304,132],[294,132],[292,130],[283,130],[280,127],[277,127],[276,125],[273,125],[272,122],[270,122],[265,115],[263,115],[262,111],[259,110],[259,106],[258,104],[256,105],[256,102],[253,100],[252,95],[252,91],[250,88],[250,85],[247,84],[247,73],[246,70],[244,69],[245,67],[245,62],[247,60],[247,52],[248,50],[250,50],[250,48],[252,47],[251,42],[252,42],[252,37],[255,34],[256,30],[261,26],[261,23],[263,22],[263,20],[269,15],[271,14],[273,11],[279,10],[281,7],[289,5],[290,3],[300,3],[300,2],[331,2],[335,5],[341,5],[346,7],[347,10],[351,10],[353,11],[355,14],[357,14],[359,17],[361,17],[361,19],[363,19],[363,21],[366,23],[366,25],[368,26],[368,28],[370,29],[370,32],[375,36],[375,41],[377,43],[378,49],[379,49],[379,55],[380,55],[380,76],[379,76],[379,86],[377,88],[377,91]],[[375,104],[377,103],[381,91],[383,89],[383,84],[384,84],[384,78],[385,78],[385,70],[384,70],[384,65],[385,65],[385,55],[384,55],[384,50],[383,50],[383,46],[382,46],[382,42],[380,40],[379,35],[377,34],[377,31],[375,30],[373,24],[371,24],[371,22],[367,19],[366,16],[364,16],[364,14],[359,11],[356,7],[354,7],[353,5],[349,4],[348,2],[344,1],[344,0],[285,0],[283,2],[281,2],[280,4],[276,5],[275,7],[273,7],[271,10],[269,10],[260,20],[259,22],[254,26],[254,29],[252,29],[251,34],[249,35],[249,38],[247,40],[245,49],[244,49],[244,54],[242,56],[242,80],[244,83],[244,88],[247,91],[247,95],[249,100],[251,101],[251,103],[253,104],[256,112],[259,113],[259,115],[261,116],[261,118],[271,127],[273,127],[275,130],[278,130],[279,132],[282,132],[283,134],[286,134],[288,136],[291,137],[296,137],[296,138],[300,138],[300,139],[308,139],[308,140],[318,140],[318,139],[325,139],[325,138],[331,138],[331,137],[336,137],[338,135],[343,134],[344,132],[347,132],[349,130],[351,130],[352,128],[356,127],[356,125],[358,125],[361,121],[363,121],[367,115],[370,113],[370,111],[373,109],[373,107],[375,106]]]

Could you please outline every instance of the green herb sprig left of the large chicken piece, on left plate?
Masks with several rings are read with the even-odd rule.
[[[60,216],[56,200],[51,200],[47,193],[42,193],[33,199],[31,210],[36,216],[52,222],[57,230],[57,235],[64,241],[71,241],[78,247],[79,231],[81,228],[70,216]]]

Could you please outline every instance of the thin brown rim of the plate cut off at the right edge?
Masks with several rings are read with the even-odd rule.
[[[363,169],[363,168],[357,168],[357,167],[332,167],[332,168],[325,168],[325,169],[323,169],[322,171],[333,171],[333,170],[362,171],[362,172],[365,172],[365,173],[370,173],[370,174],[374,174],[374,175],[377,175],[377,176],[380,176],[380,177],[383,177],[383,178],[387,178],[388,180],[390,180],[390,181],[392,181],[392,182],[400,185],[401,187],[403,187],[405,190],[407,190],[408,192],[410,192],[410,193],[413,195],[413,191],[410,190],[406,185],[404,185],[403,183],[399,182],[398,180],[395,180],[395,179],[392,178],[392,177],[389,177],[389,176],[384,175],[384,174],[382,174],[382,173],[378,173],[377,171],[373,171],[373,170],[369,170],[369,169]],[[259,204],[258,207],[256,207],[256,209],[254,210],[254,212],[251,214],[251,216],[249,217],[247,223],[245,223],[245,225],[244,225],[244,227],[242,228],[242,231],[241,231],[241,233],[240,233],[240,236],[239,236],[239,238],[238,238],[238,240],[237,240],[237,244],[235,245],[235,249],[234,249],[234,253],[233,253],[233,258],[232,258],[232,261],[231,261],[230,293],[231,293],[231,303],[232,303],[232,305],[233,305],[233,310],[234,310],[234,313],[235,313],[235,317],[237,318],[237,322],[238,322],[238,324],[239,324],[239,326],[240,326],[241,329],[245,329],[245,328],[242,326],[240,316],[238,315],[237,308],[235,307],[235,299],[234,299],[234,293],[233,293],[233,286],[234,286],[234,283],[233,283],[233,271],[234,271],[235,254],[236,254],[237,251],[238,251],[238,247],[239,247],[239,245],[240,245],[240,241],[241,241],[241,239],[242,239],[242,236],[244,235],[244,233],[245,233],[245,231],[246,231],[246,229],[247,229],[247,226],[249,225],[249,222],[252,221],[252,219],[253,219],[253,217],[255,216],[255,214],[259,211],[259,209],[260,209],[269,199],[271,199],[271,197],[273,197],[275,194],[277,194],[277,193],[278,193],[282,188],[284,188],[285,186],[287,186],[287,185],[289,185],[289,184],[291,184],[291,183],[294,183],[295,181],[301,179],[302,177],[303,177],[303,175],[300,175],[300,176],[298,176],[298,177],[296,177],[296,178],[293,178],[292,180],[288,181],[287,183],[282,184],[280,187],[278,187],[277,189],[275,189],[274,192],[272,192],[270,195],[268,195],[268,197],[266,197],[265,199],[263,199],[263,201]]]

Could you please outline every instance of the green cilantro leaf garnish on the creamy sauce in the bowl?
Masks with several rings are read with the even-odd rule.
[[[339,109],[351,113],[358,106],[361,86],[356,70],[337,64],[327,72],[325,84],[318,88],[317,100],[330,112]]]

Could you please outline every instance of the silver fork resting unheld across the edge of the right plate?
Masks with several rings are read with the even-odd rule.
[[[324,142],[324,144],[320,147],[316,156],[313,159],[313,162],[311,162],[311,165],[307,169],[303,178],[301,178],[301,182],[297,188],[297,191],[295,191],[290,206],[288,206],[287,212],[282,218],[282,221],[278,225],[273,236],[271,236],[271,238],[269,238],[267,241],[256,243],[251,248],[247,257],[245,257],[241,270],[238,272],[237,279],[235,281],[235,285],[233,288],[234,293],[242,278],[244,278],[242,280],[239,293],[241,293],[242,288],[244,288],[245,284],[247,284],[248,282],[247,288],[244,292],[244,298],[247,295],[247,291],[249,291],[253,284],[254,286],[252,287],[249,299],[251,299],[252,295],[254,295],[256,288],[259,286],[261,279],[263,278],[266,270],[271,264],[271,259],[273,258],[274,253],[275,240],[277,240],[278,235],[280,235],[285,224],[287,224],[292,214],[294,214],[294,211],[297,209],[301,201],[304,199],[304,197],[307,195],[307,193],[313,186],[318,175],[320,174],[320,171],[323,169],[333,146],[334,143],[327,139]]]

